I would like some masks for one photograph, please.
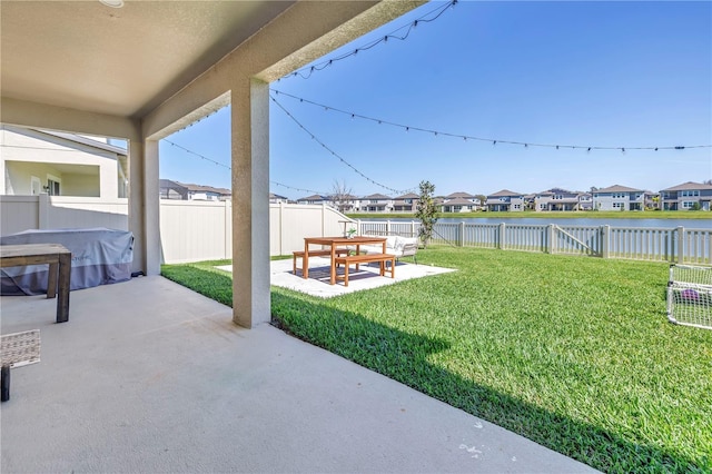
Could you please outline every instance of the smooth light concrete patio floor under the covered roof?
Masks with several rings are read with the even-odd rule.
[[[2,473],[592,472],[162,277],[55,300],[2,297],[2,334],[41,330],[12,371]]]

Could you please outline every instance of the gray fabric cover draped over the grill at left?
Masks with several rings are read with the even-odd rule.
[[[71,251],[71,289],[131,279],[134,235],[103,227],[90,229],[26,230],[0,237],[0,245],[61,244]],[[47,293],[48,265],[2,268],[0,294]]]

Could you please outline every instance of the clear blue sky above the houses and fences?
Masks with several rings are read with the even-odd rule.
[[[325,59],[444,4],[427,3]],[[406,40],[270,87],[317,138],[270,103],[270,190],[291,199],[330,192],[335,181],[366,196],[397,195],[422,180],[437,195],[487,195],[615,184],[660,190],[712,179],[712,148],[631,149],[712,145],[709,1],[459,1]],[[229,188],[229,110],[222,109],[161,141],[160,176]]]

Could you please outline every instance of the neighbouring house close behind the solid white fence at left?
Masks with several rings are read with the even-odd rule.
[[[1,125],[0,169],[0,195],[127,197],[127,151],[106,138]]]

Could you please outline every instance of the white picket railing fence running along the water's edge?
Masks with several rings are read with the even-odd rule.
[[[419,223],[359,220],[358,226],[360,234],[417,236]],[[404,228],[407,229],[405,234],[403,233]],[[387,233],[386,229],[392,229],[392,231]],[[712,229],[557,226],[554,224],[468,224],[462,221],[436,224],[431,241],[457,247],[712,265]]]

